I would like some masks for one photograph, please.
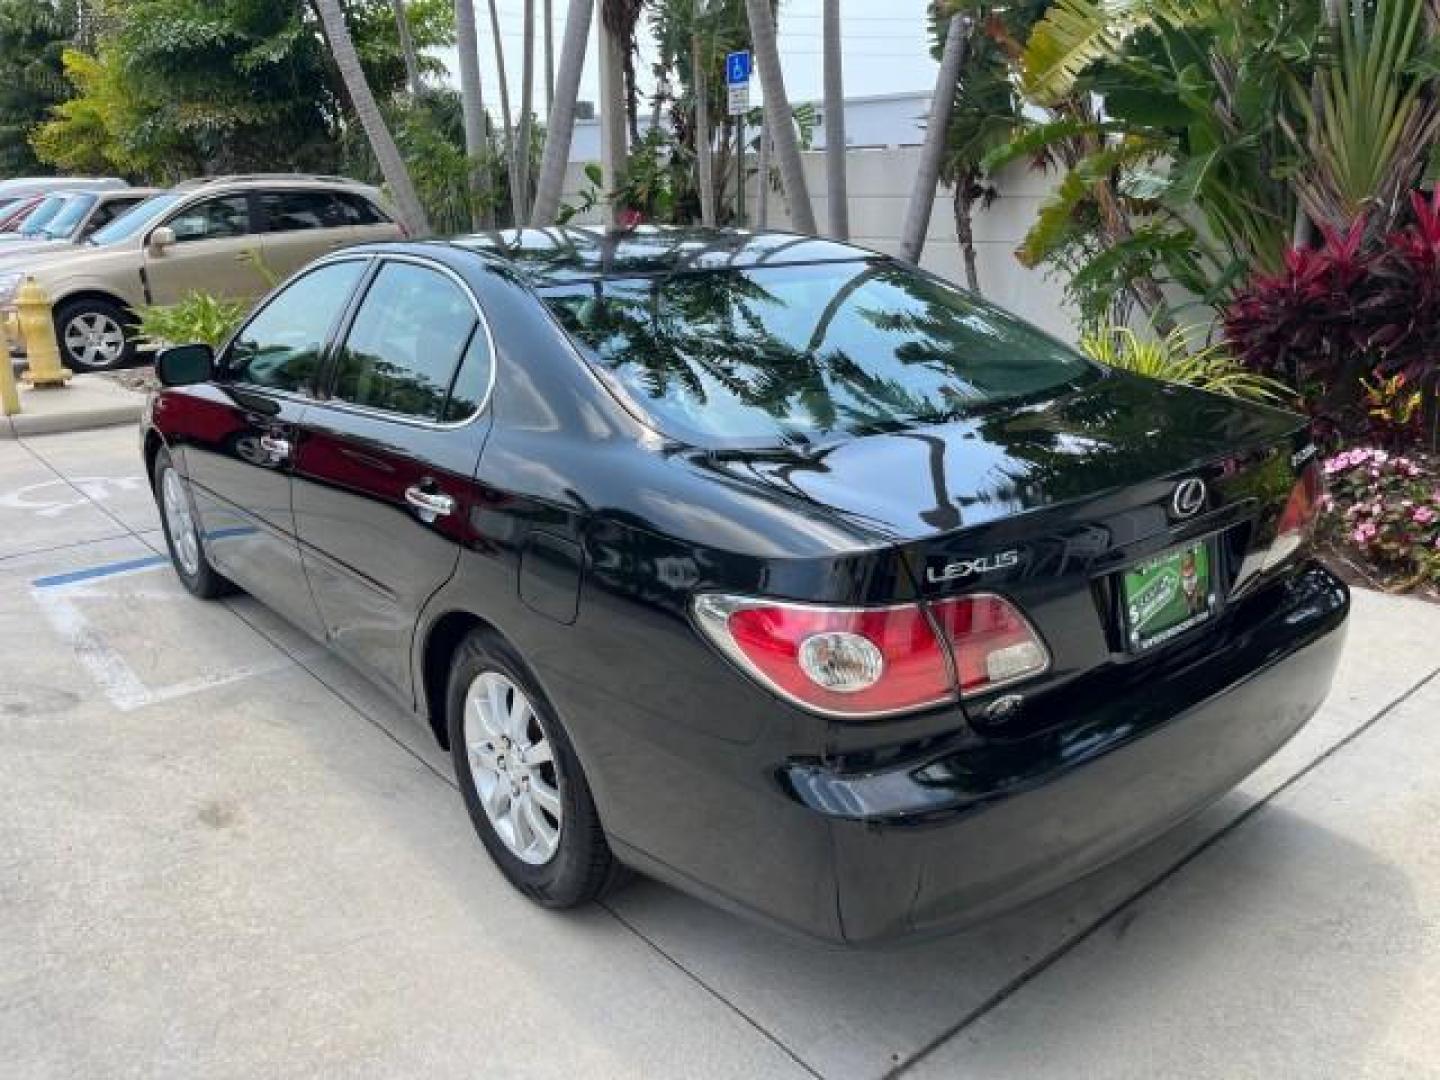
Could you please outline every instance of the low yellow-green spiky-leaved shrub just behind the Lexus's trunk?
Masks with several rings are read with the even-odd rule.
[[[1223,346],[1192,351],[1187,331],[1181,328],[1164,337],[1142,337],[1130,327],[1104,327],[1083,336],[1080,350],[1109,367],[1169,383],[1185,383],[1211,393],[1267,405],[1283,405],[1293,397],[1283,383],[1251,372],[1225,353]]]

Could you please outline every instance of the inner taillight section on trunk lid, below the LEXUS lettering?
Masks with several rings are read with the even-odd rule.
[[[962,694],[981,694],[1050,667],[1040,636],[1009,600],[978,593],[930,606],[950,639]]]

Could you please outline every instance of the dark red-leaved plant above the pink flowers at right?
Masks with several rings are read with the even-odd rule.
[[[1225,311],[1236,356],[1295,386],[1326,439],[1424,439],[1427,409],[1397,429],[1391,418],[1405,410],[1377,393],[1418,395],[1434,419],[1440,189],[1410,204],[1411,220],[1378,242],[1364,219],[1325,229],[1322,246],[1292,249],[1283,271],[1251,278]]]

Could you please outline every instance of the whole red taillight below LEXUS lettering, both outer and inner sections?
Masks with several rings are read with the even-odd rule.
[[[917,603],[828,608],[706,595],[694,611],[742,670],[828,716],[907,713],[1028,678],[1050,662],[1030,624],[999,596],[933,605],[943,639]]]

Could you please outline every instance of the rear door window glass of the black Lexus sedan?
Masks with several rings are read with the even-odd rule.
[[[331,395],[367,409],[423,420],[464,419],[446,408],[461,357],[484,338],[469,294],[444,274],[409,262],[387,262],[376,274],[336,361]],[[467,363],[462,393],[472,369]],[[484,372],[488,382],[488,367]],[[459,399],[456,399],[456,406]],[[469,409],[465,415],[469,415]]]

